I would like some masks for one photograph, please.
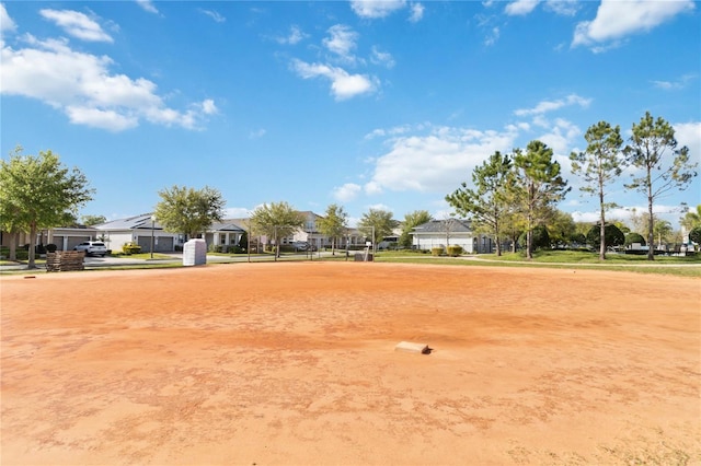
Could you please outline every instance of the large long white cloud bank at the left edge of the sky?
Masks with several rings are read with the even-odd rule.
[[[2,47],[2,93],[42,101],[62,110],[71,123],[112,131],[140,119],[195,129],[205,115],[216,113],[214,101],[186,112],[169,108],[157,85],[143,78],[113,74],[113,60],[76,51],[66,40],[38,40],[27,35],[26,48]]]

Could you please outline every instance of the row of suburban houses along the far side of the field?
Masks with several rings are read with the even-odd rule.
[[[323,235],[317,226],[321,217],[311,211],[302,213],[304,214],[303,228],[291,236],[278,238],[278,243],[281,246],[307,243],[318,249],[331,247],[333,238]],[[227,219],[214,223],[205,233],[204,240],[208,247],[228,248],[238,246],[248,231],[248,219]],[[380,248],[391,247],[392,243],[397,243],[401,231],[398,229],[394,235],[386,237],[378,246]],[[417,249],[432,249],[447,245],[462,246],[467,253],[487,253],[493,249],[492,241],[489,237],[473,234],[468,220],[450,219],[424,223],[414,229],[412,237],[413,247]],[[39,233],[37,244],[55,244],[58,251],[71,251],[76,245],[85,241],[102,241],[106,244],[107,249],[112,251],[122,251],[125,244],[133,243],[141,246],[142,252],[151,252],[152,247],[154,253],[172,253],[182,251],[186,240],[184,234],[163,230],[158,219],[154,219],[151,213],[145,213],[93,226],[45,230]],[[274,242],[274,238],[265,236],[250,237],[250,240],[255,246]],[[348,229],[346,235],[336,240],[335,247],[354,249],[365,246],[366,240],[357,229]],[[28,243],[26,235],[20,235],[16,244],[26,243]],[[0,244],[9,246],[9,235],[2,234]]]

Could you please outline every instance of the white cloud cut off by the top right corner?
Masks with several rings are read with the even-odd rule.
[[[679,13],[694,9],[692,0],[601,0],[596,18],[577,24],[572,46],[591,46],[601,50],[601,44],[623,39],[625,36],[651,31]]]

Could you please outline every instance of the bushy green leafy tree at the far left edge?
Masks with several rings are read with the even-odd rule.
[[[64,166],[50,150],[37,156],[22,152],[18,147],[9,161],[0,161],[0,222],[4,231],[28,233],[27,268],[34,269],[37,232],[64,225],[95,191],[85,175]]]

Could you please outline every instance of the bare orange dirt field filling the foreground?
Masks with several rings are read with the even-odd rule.
[[[698,279],[296,263],[0,287],[2,465],[701,464]]]

